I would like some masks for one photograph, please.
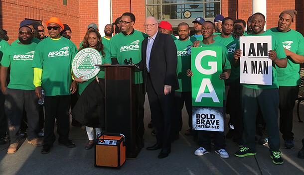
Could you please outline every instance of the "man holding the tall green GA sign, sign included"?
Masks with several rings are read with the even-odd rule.
[[[225,150],[225,136],[224,136],[224,114],[225,110],[223,110],[223,101],[225,100],[225,85],[224,81],[227,80],[230,76],[231,72],[231,65],[229,61],[227,61],[227,48],[221,44],[216,42],[213,39],[213,33],[215,32],[214,23],[211,21],[206,21],[202,25],[202,35],[203,41],[199,43],[198,47],[210,47],[209,50],[203,50],[197,53],[198,49],[192,49],[192,59],[195,58],[195,69],[193,72],[202,73],[203,75],[211,75],[210,79],[203,79],[201,81],[201,86],[199,87],[198,91],[195,88],[195,77],[192,80],[192,95],[195,101],[193,105],[193,115],[195,116],[193,120],[193,128],[196,130],[204,130],[198,132],[198,144],[199,148],[194,152],[196,156],[202,156],[207,154],[211,151],[211,137],[210,135],[214,135],[214,149],[215,152],[221,158],[229,158],[229,154]],[[219,50],[219,51],[217,51]],[[219,55],[217,57],[217,54]],[[205,54],[206,53],[206,54]],[[208,54],[209,53],[209,54]],[[216,53],[216,55],[212,55],[211,53]],[[204,54],[204,55],[203,55]],[[207,57],[213,56],[213,58],[221,58],[219,62],[211,62],[209,61],[207,64],[204,64],[203,60],[207,59]],[[205,58],[204,58],[205,57]],[[221,64],[218,63],[222,62]],[[202,64],[203,63],[203,64]],[[207,66],[208,65],[208,66]],[[202,66],[206,66],[205,69]],[[211,67],[211,69],[210,69]],[[192,66],[193,69],[193,66]],[[220,71],[223,70],[221,73]],[[187,76],[193,76],[193,72],[188,69]],[[196,76],[199,76],[195,74]],[[219,76],[219,81],[218,77]],[[207,76],[206,76],[207,77]],[[212,82],[211,82],[212,80]],[[206,83],[205,83],[206,82]],[[218,84],[221,88],[214,88],[213,85]],[[218,87],[219,87],[218,86]],[[208,90],[205,90],[208,88]],[[220,90],[218,90],[220,89]],[[207,92],[208,91],[208,92]],[[217,93],[218,92],[218,93]],[[224,98],[224,99],[223,99]],[[223,100],[222,100],[223,99]],[[207,103],[205,102],[207,101]],[[193,96],[192,96],[193,102]],[[205,103],[203,104],[204,107],[194,107],[195,103]],[[213,104],[213,105],[209,105]],[[214,107],[205,107],[205,106],[214,106]],[[211,111],[207,114],[207,111]],[[218,118],[214,120],[215,118]],[[196,121],[196,122],[194,122]],[[218,132],[214,132],[218,131]]]

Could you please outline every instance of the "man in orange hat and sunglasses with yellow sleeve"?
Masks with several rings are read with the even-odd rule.
[[[32,63],[36,95],[41,98],[41,89],[45,92],[44,145],[41,154],[49,153],[55,142],[55,117],[59,145],[75,147],[69,140],[69,109],[70,95],[77,88],[71,77],[71,63],[77,48],[72,41],[60,36],[64,26],[59,18],[51,17],[46,25],[49,37],[37,45]]]

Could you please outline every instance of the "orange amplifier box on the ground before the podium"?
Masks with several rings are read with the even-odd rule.
[[[95,145],[95,167],[120,168],[126,162],[123,134],[99,133]]]

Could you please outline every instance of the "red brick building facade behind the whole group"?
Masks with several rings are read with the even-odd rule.
[[[56,16],[71,27],[72,41],[78,46],[87,30],[87,25],[91,22],[98,25],[100,21],[104,20],[103,9],[101,9],[104,1],[106,0],[0,0],[0,28],[7,31],[8,42],[11,43],[17,38],[17,30],[21,20],[32,19],[41,21],[45,25],[46,20],[51,16]],[[108,1],[111,2],[112,8],[109,8],[111,8],[112,19],[105,20],[114,21],[123,12],[131,11],[136,16],[135,28],[144,31],[143,24],[148,15],[146,14],[146,3],[153,0]],[[252,0],[215,1],[220,3],[220,12],[224,16],[247,20],[248,16],[252,14]],[[197,1],[197,3],[203,3],[203,0]],[[107,8],[105,7],[105,9]],[[278,16],[284,9],[296,9],[299,12],[292,28],[303,34],[304,0],[267,0],[267,28],[277,25]],[[174,20],[172,21],[174,23]],[[100,33],[103,34],[103,26],[100,28]]]

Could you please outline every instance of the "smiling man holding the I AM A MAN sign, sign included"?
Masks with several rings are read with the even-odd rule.
[[[278,110],[279,110],[279,86],[277,82],[277,72],[276,67],[285,68],[287,65],[286,55],[281,43],[275,37],[271,37],[270,41],[268,38],[270,36],[268,32],[264,32],[265,16],[262,13],[255,13],[251,18],[251,36],[264,36],[260,37],[258,41],[254,41],[255,38],[250,37],[248,40],[252,40],[251,43],[246,42],[244,37],[244,42],[242,42],[242,37],[240,37],[241,49],[236,50],[234,54],[234,59],[236,62],[241,62],[241,103],[243,120],[244,120],[244,147],[242,147],[234,155],[237,157],[246,157],[256,155],[255,149],[255,131],[256,131],[256,116],[258,112],[258,107],[260,106],[262,115],[265,119],[267,125],[267,132],[269,135],[269,151],[271,153],[271,158],[274,164],[283,164],[283,159],[280,152],[280,137],[278,128]],[[266,40],[266,42],[264,42]],[[271,42],[271,44],[270,44]],[[260,45],[260,46],[259,46]],[[272,48],[269,50],[268,48]],[[266,53],[265,53],[266,52]],[[260,57],[258,57],[260,55]],[[242,57],[240,59],[240,57]],[[261,67],[261,60],[265,58],[271,60],[272,69],[270,70],[272,75],[270,75],[272,81],[267,82],[268,76],[267,72],[270,73],[268,67]],[[246,62],[251,63],[251,66],[247,66]],[[255,64],[254,62],[260,62],[260,64]],[[267,64],[264,61],[263,65]],[[256,71],[256,67],[258,71]],[[262,70],[262,71],[260,71]],[[242,81],[242,76],[244,74],[256,73],[256,75],[250,76],[250,78],[244,79]],[[263,79],[257,79],[261,76],[262,72]],[[245,75],[246,76],[246,75]],[[254,81],[257,80],[257,83]],[[261,83],[266,81],[264,85]],[[253,83],[248,84],[251,81]],[[245,84],[246,83],[246,84]]]

